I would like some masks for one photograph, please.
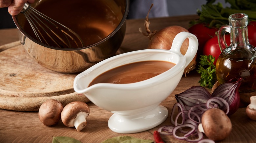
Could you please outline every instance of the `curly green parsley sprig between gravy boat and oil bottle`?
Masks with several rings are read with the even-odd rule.
[[[201,74],[201,78],[199,80],[200,86],[208,88],[212,88],[214,83],[217,81],[216,79],[216,67],[213,64],[215,57],[212,55],[206,56],[201,55],[200,65],[198,68],[198,73]]]

